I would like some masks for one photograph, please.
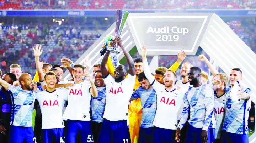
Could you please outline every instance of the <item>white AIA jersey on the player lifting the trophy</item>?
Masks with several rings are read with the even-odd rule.
[[[116,82],[109,74],[104,78],[106,84],[106,107],[103,118],[110,121],[128,119],[128,104],[133,93],[136,76],[128,74],[128,78]]]

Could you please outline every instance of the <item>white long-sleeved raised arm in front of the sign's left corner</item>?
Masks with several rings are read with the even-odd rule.
[[[152,85],[155,78],[150,72],[148,60],[146,58],[146,46],[145,45],[143,45],[141,48],[141,55],[142,55],[142,63],[143,63],[143,69],[144,69],[145,76],[148,79],[149,83]]]

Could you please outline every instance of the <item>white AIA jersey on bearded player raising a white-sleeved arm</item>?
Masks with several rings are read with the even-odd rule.
[[[156,91],[157,108],[153,125],[159,128],[176,130],[178,126],[178,110],[183,103],[185,93],[174,88],[167,91],[165,86],[157,81],[153,82],[152,87]]]

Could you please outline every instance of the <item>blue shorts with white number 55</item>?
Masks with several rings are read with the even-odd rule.
[[[78,135],[82,143],[93,143],[91,121],[68,120],[66,143],[76,143]]]

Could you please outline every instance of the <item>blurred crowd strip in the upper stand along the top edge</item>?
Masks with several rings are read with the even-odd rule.
[[[256,8],[255,0],[0,0],[0,9]]]

